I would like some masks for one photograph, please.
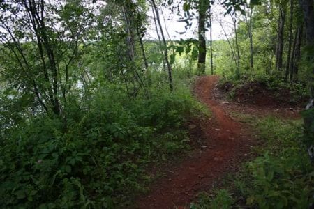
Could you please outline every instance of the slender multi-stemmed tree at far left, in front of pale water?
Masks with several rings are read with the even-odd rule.
[[[0,41],[17,68],[6,72],[8,80],[32,91],[45,111],[61,114],[93,15],[82,1],[1,1],[0,12]]]

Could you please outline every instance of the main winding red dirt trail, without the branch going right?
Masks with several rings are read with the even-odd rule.
[[[195,85],[197,98],[213,113],[213,120],[200,125],[202,150],[157,180],[151,193],[138,200],[138,208],[184,208],[197,193],[208,191],[221,176],[237,170],[246,158],[253,140],[241,123],[226,114],[223,104],[213,99],[217,81],[216,76],[200,77]]]

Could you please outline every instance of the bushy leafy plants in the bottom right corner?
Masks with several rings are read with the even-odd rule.
[[[303,151],[303,152],[302,152]],[[253,188],[247,204],[259,208],[308,208],[313,203],[314,171],[300,148],[287,148],[281,157],[257,157],[251,162]]]

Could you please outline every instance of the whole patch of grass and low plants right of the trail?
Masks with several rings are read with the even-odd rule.
[[[216,196],[202,194],[190,208],[309,208],[314,202],[314,168],[301,121],[240,117],[257,131],[263,146],[254,148],[253,155],[259,157],[227,177]]]

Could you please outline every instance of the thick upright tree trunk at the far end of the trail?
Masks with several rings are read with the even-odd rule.
[[[198,61],[197,70],[199,75],[205,74],[206,68],[206,36],[205,21],[207,12],[207,0],[200,0],[198,4]]]

